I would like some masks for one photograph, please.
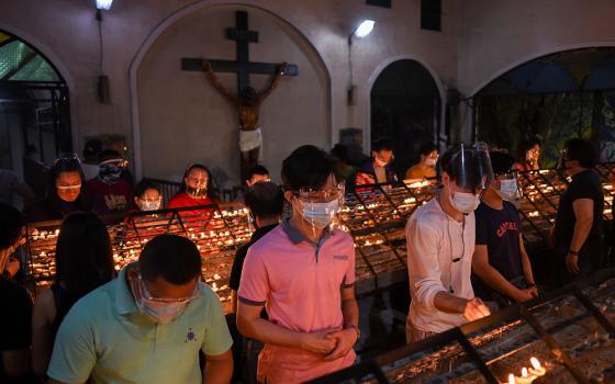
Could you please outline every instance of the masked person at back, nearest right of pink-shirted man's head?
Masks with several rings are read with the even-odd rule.
[[[355,184],[364,185],[398,181],[398,176],[391,167],[393,159],[393,143],[388,138],[376,140],[371,146],[371,159],[357,171]]]

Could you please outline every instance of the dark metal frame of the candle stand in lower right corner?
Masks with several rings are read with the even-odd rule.
[[[320,377],[312,383],[347,383],[350,380],[360,382],[360,380],[367,379],[376,379],[378,383],[388,383],[388,380],[383,381],[382,376],[376,375],[376,373],[384,373],[385,370],[383,368],[391,365],[394,362],[402,361],[403,359],[407,359],[412,355],[428,353],[429,351],[437,351],[445,345],[458,342],[462,351],[467,354],[469,362],[474,364],[474,366],[483,375],[487,383],[497,384],[499,381],[489,369],[489,365],[491,365],[499,359],[485,362],[479,354],[477,348],[472,345],[471,336],[483,331],[485,328],[497,327],[503,323],[512,324],[519,319],[525,320],[525,323],[532,329],[534,329],[536,337],[532,341],[541,339],[548,347],[550,353],[566,368],[566,370],[574,377],[578,383],[590,383],[588,377],[585,377],[583,373],[574,365],[572,359],[567,352],[563,351],[561,346],[559,346],[559,343],[551,335],[572,324],[578,323],[580,319],[583,319],[585,317],[593,317],[602,326],[602,328],[604,328],[611,335],[612,338],[615,338],[615,325],[611,320],[608,320],[599,308],[596,308],[596,306],[585,294],[581,292],[585,287],[599,285],[602,282],[613,278],[615,278],[615,269],[600,271],[594,276],[589,278],[584,281],[580,281],[564,287],[548,292],[540,297],[536,297],[527,303],[516,304],[489,317],[465,324],[460,327],[452,328],[438,335],[434,335],[427,339],[414,342],[410,346],[383,352],[372,360],[349,366],[331,375]],[[606,290],[613,290],[613,287],[611,286]],[[545,304],[567,296],[574,296],[579,301],[581,306],[586,309],[586,313],[570,319],[566,319],[564,321],[561,321],[562,324],[558,324],[556,326],[552,326],[551,328],[544,328],[533,315],[533,313],[538,312]],[[516,350],[513,350],[505,355],[507,357],[515,352]],[[410,365],[412,365],[412,363],[407,364],[407,366]],[[399,369],[399,366],[395,366],[395,369]],[[607,370],[610,370],[610,368],[607,368],[605,371]]]

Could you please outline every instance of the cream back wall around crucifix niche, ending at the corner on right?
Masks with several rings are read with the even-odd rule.
[[[425,63],[438,75],[436,80],[440,87],[441,83],[456,81],[456,1],[445,1],[445,32],[436,33],[421,31],[420,0],[394,1],[392,10],[369,7],[358,0],[115,0],[112,10],[104,13],[103,21],[103,71],[110,78],[112,103],[99,104],[96,100],[98,30],[92,3],[87,0],[4,0],[0,15],[0,29],[29,39],[69,80],[72,128],[78,150],[82,148],[82,138],[92,134],[123,134],[132,146],[131,64],[135,58],[145,57],[148,45],[155,44],[155,38],[148,41],[148,37],[164,33],[164,27],[159,31],[157,26],[182,10],[200,12],[200,9],[210,5],[242,3],[269,11],[297,29],[314,47],[329,72],[329,104],[326,111],[326,118],[331,121],[328,146],[338,139],[337,131],[347,126],[366,129],[367,138],[369,81],[391,58],[410,57]],[[354,82],[358,86],[359,102],[347,106],[347,35],[364,18],[374,19],[377,25],[368,38],[356,41],[353,45]],[[232,45],[230,49],[234,53]],[[280,104],[286,103],[287,100],[271,100],[264,106],[264,113],[275,113]],[[233,118],[231,111],[227,112],[223,116],[219,111],[220,123]],[[310,112],[306,110],[299,117],[308,116]],[[138,122],[139,117],[135,120]],[[228,128],[234,129],[235,126]],[[292,146],[283,149],[290,153]],[[139,163],[139,159],[135,160]]]

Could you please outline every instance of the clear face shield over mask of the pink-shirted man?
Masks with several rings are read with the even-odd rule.
[[[322,190],[302,189],[297,193],[298,210],[313,228],[326,228],[344,205],[344,182]]]

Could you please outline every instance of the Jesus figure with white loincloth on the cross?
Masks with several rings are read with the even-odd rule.
[[[245,173],[249,168],[258,163],[260,147],[262,146],[262,132],[258,125],[260,104],[278,86],[287,64],[282,63],[276,75],[273,75],[271,83],[264,91],[257,92],[254,88],[246,87],[235,97],[222,86],[211,67],[211,63],[209,60],[203,60],[203,63],[205,74],[213,87],[237,110],[239,118],[239,150],[242,151],[242,177],[245,178]]]

